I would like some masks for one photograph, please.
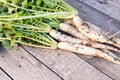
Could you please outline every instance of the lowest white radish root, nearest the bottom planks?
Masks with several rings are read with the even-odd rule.
[[[98,56],[106,60],[109,60],[113,63],[120,64],[119,59],[114,58],[110,56],[109,54],[106,54],[98,49],[94,49],[92,47],[87,47],[87,46],[80,45],[77,43],[59,42],[58,48],[71,51],[71,52],[75,52],[75,53],[79,53],[79,54],[83,54],[83,55]]]

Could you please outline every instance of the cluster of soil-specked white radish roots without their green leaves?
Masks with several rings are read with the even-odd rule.
[[[110,40],[94,28],[97,28],[97,26],[83,21],[79,16],[75,16],[72,19],[66,19],[65,23],[59,24],[59,29],[67,34],[57,30],[51,30],[49,34],[59,41],[59,49],[83,55],[98,56],[120,64],[119,57],[109,51],[120,53],[120,39],[112,37],[112,40]]]

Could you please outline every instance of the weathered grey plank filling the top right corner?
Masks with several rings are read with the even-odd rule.
[[[111,17],[120,20],[120,0],[80,0]]]

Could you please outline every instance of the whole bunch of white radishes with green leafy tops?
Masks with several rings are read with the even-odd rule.
[[[62,49],[120,64],[120,38],[82,20],[63,0],[0,0],[0,42]]]

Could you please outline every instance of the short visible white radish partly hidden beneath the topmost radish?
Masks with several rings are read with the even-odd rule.
[[[83,34],[81,34],[75,27],[73,27],[70,24],[60,23],[59,24],[59,29],[66,32],[66,33],[69,33],[70,35],[72,35],[74,37],[84,39],[84,40],[88,40],[87,37],[85,37]]]

